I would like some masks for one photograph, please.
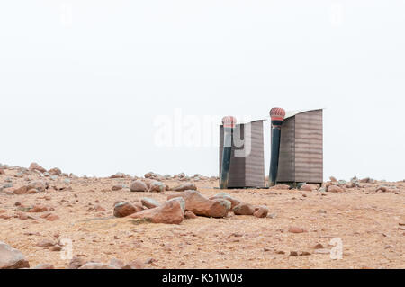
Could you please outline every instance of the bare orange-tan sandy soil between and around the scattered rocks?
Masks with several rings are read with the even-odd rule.
[[[142,197],[164,202],[167,195],[179,192],[112,191],[114,184],[130,186],[133,178],[129,176],[112,179],[58,175],[51,179],[26,169],[23,177],[14,176],[22,170],[9,167],[4,169],[4,175],[0,174],[0,186],[6,178],[11,178],[13,184],[11,189],[0,191],[0,241],[20,250],[31,266],[47,263],[67,268],[69,260],[61,259],[60,252],[39,247],[38,243],[70,238],[73,255],[86,261],[138,259],[146,268],[405,268],[403,181],[360,183],[341,193],[322,193],[296,189],[221,191],[217,180],[190,179],[207,197],[226,192],[241,202],[266,205],[269,214],[261,219],[229,213],[223,219],[198,217],[170,225],[114,218],[113,205],[117,201],[139,202]],[[64,182],[66,178],[70,183]],[[29,180],[71,190],[49,187],[42,193],[9,194]],[[163,182],[170,187],[184,184],[175,179]],[[388,189],[376,191],[382,184]],[[44,205],[59,219],[42,219],[40,216],[47,211],[26,212],[16,202],[23,207]],[[105,211],[95,211],[97,204]],[[32,219],[21,220],[16,217],[18,212]],[[305,232],[290,232],[292,227]],[[330,258],[332,238],[342,240],[342,259]],[[316,245],[323,248],[315,249]],[[293,256],[294,252],[297,256]]]

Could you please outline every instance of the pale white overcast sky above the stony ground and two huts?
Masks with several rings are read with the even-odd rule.
[[[402,180],[404,35],[404,0],[2,1],[0,163],[218,175],[157,119],[325,107],[325,179]]]

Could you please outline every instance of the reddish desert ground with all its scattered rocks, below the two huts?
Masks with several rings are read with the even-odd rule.
[[[405,268],[404,181],[218,186],[2,165],[0,269]]]

